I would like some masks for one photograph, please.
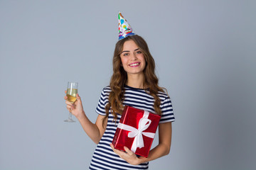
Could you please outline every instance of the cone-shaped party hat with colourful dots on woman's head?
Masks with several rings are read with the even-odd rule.
[[[122,40],[123,38],[126,38],[128,36],[135,35],[132,27],[129,25],[127,20],[124,19],[121,12],[118,13],[118,34],[119,40]]]

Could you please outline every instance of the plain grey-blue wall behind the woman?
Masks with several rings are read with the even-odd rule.
[[[118,11],[148,42],[176,115],[171,152],[150,169],[255,169],[255,8],[238,0],[1,0],[0,169],[87,169],[96,145],[79,123],[63,123],[63,96],[67,81],[78,81],[95,122]]]

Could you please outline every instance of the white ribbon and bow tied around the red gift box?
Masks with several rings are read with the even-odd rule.
[[[120,128],[122,130],[128,130],[130,131],[128,133],[128,137],[134,137],[134,142],[132,143],[132,152],[135,152],[137,147],[142,148],[144,147],[144,140],[142,135],[150,138],[154,138],[155,133],[153,132],[143,132],[147,128],[149,128],[149,125],[151,124],[151,120],[148,119],[149,112],[144,111],[143,117],[139,120],[138,129],[134,128],[129,125],[124,125],[123,123],[118,123],[117,128]]]

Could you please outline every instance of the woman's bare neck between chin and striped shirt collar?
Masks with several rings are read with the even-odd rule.
[[[127,86],[144,89],[144,74],[128,74]]]

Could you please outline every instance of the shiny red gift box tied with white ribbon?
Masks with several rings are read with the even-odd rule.
[[[124,151],[124,146],[142,157],[148,157],[161,116],[125,106],[112,144]]]

